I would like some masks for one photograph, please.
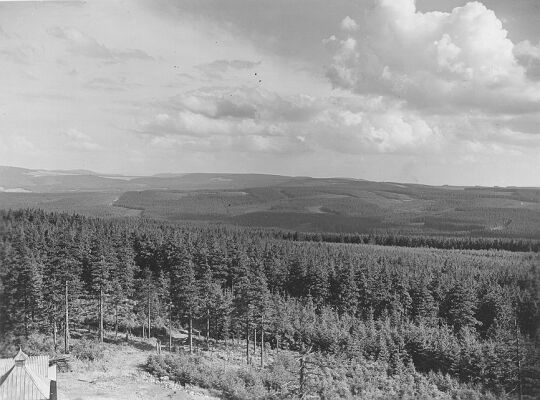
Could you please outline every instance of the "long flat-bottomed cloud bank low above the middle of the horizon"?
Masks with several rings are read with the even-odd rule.
[[[138,131],[158,146],[298,153],[417,153],[440,135],[417,113],[381,98],[279,96],[247,87],[205,88],[160,105]]]

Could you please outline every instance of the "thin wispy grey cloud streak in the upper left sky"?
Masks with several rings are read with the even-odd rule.
[[[106,47],[96,39],[75,28],[52,27],[49,34],[68,43],[68,49],[74,54],[84,57],[98,58],[108,61],[123,61],[130,59],[151,60],[149,56],[139,49],[117,50]]]

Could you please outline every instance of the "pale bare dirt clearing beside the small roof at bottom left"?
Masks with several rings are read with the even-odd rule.
[[[214,400],[199,388],[161,382],[142,366],[150,351],[115,346],[106,362],[75,363],[74,371],[58,374],[59,400]]]

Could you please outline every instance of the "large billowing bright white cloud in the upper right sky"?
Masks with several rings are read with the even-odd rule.
[[[377,0],[326,40],[334,86],[404,99],[411,107],[530,112],[540,86],[530,82],[502,22],[482,3],[451,12],[417,11],[414,0]]]

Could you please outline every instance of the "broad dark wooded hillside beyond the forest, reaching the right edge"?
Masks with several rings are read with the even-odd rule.
[[[314,232],[540,235],[540,191],[302,179],[242,190],[126,192],[115,205],[150,218]]]

